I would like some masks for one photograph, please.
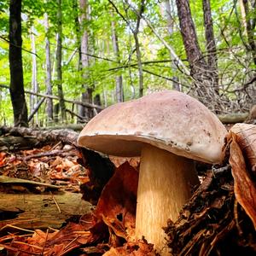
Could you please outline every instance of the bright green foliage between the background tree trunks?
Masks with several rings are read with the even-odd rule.
[[[177,9],[172,9],[173,32],[170,35],[166,29],[166,17],[160,9],[160,1],[145,1],[144,17],[150,21],[154,30],[167,44],[172,45],[178,57],[188,67],[182,35],[179,29]],[[124,82],[125,100],[138,96],[137,57],[135,51],[132,30],[137,24],[135,9],[139,9],[141,1],[114,1],[125,20],[116,13],[108,0],[88,1],[90,5],[90,19],[83,24],[78,24],[79,1],[62,0],[62,84],[66,98],[79,100],[82,85],[93,88],[94,95],[107,96],[107,104],[114,102],[115,79],[121,75]],[[131,3],[129,6],[128,3]],[[234,5],[236,4],[236,5]],[[255,66],[251,53],[247,50],[247,33],[242,25],[241,9],[238,1],[211,1],[212,20],[215,40],[218,48],[218,73],[219,82],[222,85],[221,92],[229,97],[234,94],[227,92],[236,89],[247,81]],[[203,25],[202,1],[190,1],[190,8],[199,44],[203,54],[206,54],[205,28]],[[0,35],[8,39],[9,33],[9,1],[0,2]],[[55,69],[55,46],[57,3],[55,1],[23,0],[22,1],[22,38],[23,38],[23,68],[24,84],[26,90],[32,90],[32,27],[36,38],[36,54],[38,68],[38,84],[41,93],[45,93],[45,38],[50,41],[52,67]],[[45,32],[45,14],[49,17],[49,32]],[[255,12],[250,10],[249,19],[255,17]],[[112,22],[119,41],[119,60],[113,51]],[[129,23],[129,26],[127,25]],[[81,70],[79,68],[79,49],[82,33],[90,34],[90,67]],[[144,20],[138,33],[143,61],[143,81],[147,90],[159,90],[160,88],[172,88],[173,76],[177,77],[181,84],[189,86],[190,79],[180,69],[173,69],[169,50],[154,35],[151,28]],[[0,65],[1,84],[9,84],[9,44],[0,38]],[[29,52],[30,51],[30,52]],[[53,74],[53,92],[57,95],[56,84],[58,81]],[[186,90],[186,87],[183,87]],[[8,90],[2,89],[0,122],[12,122],[12,113]],[[27,97],[29,102],[29,96]],[[69,108],[69,105],[67,104]],[[44,116],[44,107],[40,109],[40,115]],[[29,109],[30,110],[30,109]]]

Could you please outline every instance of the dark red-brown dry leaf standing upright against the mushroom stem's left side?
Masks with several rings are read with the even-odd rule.
[[[96,217],[102,218],[117,236],[134,235],[138,172],[125,162],[102,190]]]

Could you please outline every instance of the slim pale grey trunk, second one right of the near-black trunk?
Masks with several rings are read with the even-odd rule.
[[[45,13],[44,15],[44,24],[45,24],[45,64],[46,64],[46,79],[45,79],[45,84],[46,84],[46,94],[47,95],[52,95],[52,85],[51,85],[51,61],[50,61],[50,46],[49,46],[49,23],[48,23],[48,15]],[[48,122],[53,121],[53,101],[52,99],[47,99],[47,107],[46,107],[46,112],[47,112],[47,119]]]

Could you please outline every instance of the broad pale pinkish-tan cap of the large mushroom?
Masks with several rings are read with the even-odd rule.
[[[104,154],[139,156],[149,143],[189,159],[219,163],[226,134],[201,102],[164,90],[105,108],[84,126],[78,144]]]

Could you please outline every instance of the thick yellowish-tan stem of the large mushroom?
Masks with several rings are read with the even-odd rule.
[[[168,255],[165,232],[167,219],[176,221],[178,212],[199,183],[193,160],[146,145],[142,150],[137,190],[136,236],[145,236],[161,255]]]

